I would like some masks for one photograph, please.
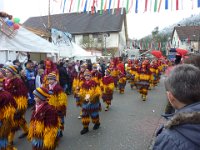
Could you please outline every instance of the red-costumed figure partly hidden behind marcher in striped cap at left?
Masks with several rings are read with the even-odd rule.
[[[44,70],[44,75],[43,75],[43,83],[42,86],[47,88],[49,86],[47,76],[49,73],[55,73],[56,74],[56,79],[59,81],[59,72],[58,69],[56,68],[56,65],[53,63],[53,61],[47,59],[45,60],[45,70]]]

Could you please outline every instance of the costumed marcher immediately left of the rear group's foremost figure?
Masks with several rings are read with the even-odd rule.
[[[138,60],[134,60],[134,63],[130,69],[130,86],[131,89],[133,89],[136,86],[136,83],[138,81],[138,70],[139,70],[139,64]]]

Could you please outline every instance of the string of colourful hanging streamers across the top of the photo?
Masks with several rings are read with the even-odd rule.
[[[62,13],[145,13],[200,8],[200,0],[53,0]],[[125,8],[125,11],[124,9]],[[99,11],[97,11],[99,10]]]

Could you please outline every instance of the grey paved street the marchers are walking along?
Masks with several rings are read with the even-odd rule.
[[[148,100],[143,102],[136,90],[126,86],[124,95],[114,93],[111,109],[100,113],[101,127],[80,135],[81,121],[77,119],[79,109],[72,96],[68,97],[68,111],[64,137],[57,150],[147,150],[153,134],[159,124],[160,114],[166,105],[163,79],[153,90],[149,91]],[[27,120],[30,120],[30,109]],[[15,139],[18,150],[31,150],[26,139]]]

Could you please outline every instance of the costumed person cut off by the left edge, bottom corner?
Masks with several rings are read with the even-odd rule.
[[[4,79],[0,79],[0,149],[13,150],[13,145],[8,145],[8,135],[14,124],[14,114],[17,110],[17,104],[13,96],[4,90]]]

